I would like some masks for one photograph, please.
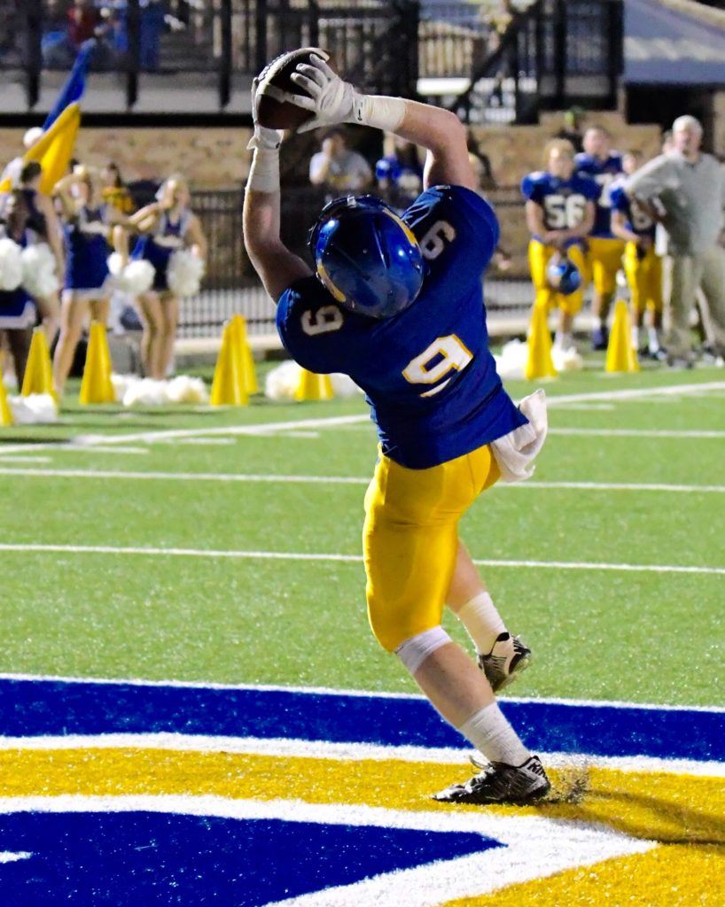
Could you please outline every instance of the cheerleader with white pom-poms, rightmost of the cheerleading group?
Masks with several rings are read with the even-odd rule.
[[[132,258],[145,259],[154,268],[152,288],[139,296],[144,373],[162,380],[173,357],[179,297],[198,292],[207,241],[199,219],[189,208],[189,186],[182,176],[170,176],[157,199],[137,211],[129,222],[141,234]],[[174,254],[184,249],[191,256]]]

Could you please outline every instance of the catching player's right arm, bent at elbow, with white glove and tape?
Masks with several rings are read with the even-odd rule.
[[[357,122],[421,145],[428,151],[424,185],[441,183],[477,188],[475,172],[468,159],[465,126],[455,113],[380,94],[361,94],[344,82],[328,63],[316,54],[309,63],[299,63],[292,81],[306,94],[289,98],[315,114],[299,132],[339,122]]]

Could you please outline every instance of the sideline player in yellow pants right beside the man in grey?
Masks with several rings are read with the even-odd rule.
[[[622,170],[632,176],[642,166],[642,151],[632,149],[622,155]],[[632,344],[636,350],[649,353],[653,359],[663,356],[660,346],[662,327],[662,259],[655,249],[657,219],[652,203],[644,205],[630,198],[624,189],[624,180],[612,183],[612,233],[626,242],[624,247],[624,273],[630,287],[634,324]],[[644,314],[649,314],[647,346],[640,348],[640,333]]]

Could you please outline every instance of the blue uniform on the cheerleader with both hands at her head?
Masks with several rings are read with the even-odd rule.
[[[63,298],[108,296],[108,208],[83,207],[64,225],[65,280]]]

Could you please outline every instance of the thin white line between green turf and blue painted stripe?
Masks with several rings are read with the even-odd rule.
[[[211,681],[200,680],[146,680],[143,678],[94,678],[94,677],[68,677],[56,674],[17,674],[17,673],[0,673],[0,680],[38,680],[51,681],[57,683],[76,683],[76,684],[101,684],[115,685],[125,684],[130,687],[170,687],[177,689],[219,689],[219,690],[250,690],[262,693],[303,693],[314,694],[318,696],[349,696],[349,697],[377,697],[381,699],[414,699],[426,701],[426,697],[421,693],[393,693],[380,690],[365,689],[346,689],[331,687],[289,687],[281,684],[224,684],[213,683]],[[671,706],[660,703],[647,702],[626,702],[621,699],[568,699],[565,697],[517,697],[506,696],[505,702],[520,703],[541,703],[543,705],[556,706],[580,706],[580,707],[606,707],[606,708],[642,708],[651,711],[662,712],[709,712],[713,714],[725,714],[725,707],[720,706]]]

